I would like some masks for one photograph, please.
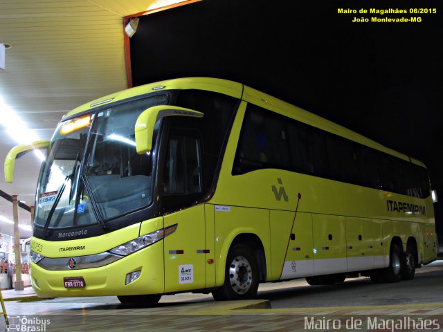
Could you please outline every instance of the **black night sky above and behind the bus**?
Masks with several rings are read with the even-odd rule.
[[[133,84],[189,76],[242,82],[422,160],[440,195],[443,234],[442,7],[435,0],[204,0],[140,18],[130,40]],[[352,23],[361,16],[422,22]]]

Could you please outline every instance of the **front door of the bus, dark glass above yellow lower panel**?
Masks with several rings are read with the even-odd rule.
[[[205,207],[195,205],[203,194],[201,136],[198,131],[172,127],[165,151],[162,209],[165,228],[165,293],[206,286]]]

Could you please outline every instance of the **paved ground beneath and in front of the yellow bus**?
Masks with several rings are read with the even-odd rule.
[[[123,306],[116,297],[5,303],[10,331],[255,332],[332,331],[336,327],[341,331],[361,327],[359,331],[374,327],[391,331],[391,320],[406,319],[415,328],[426,321],[431,324],[428,331],[443,331],[442,281],[443,261],[436,261],[417,270],[415,279],[408,282],[372,284],[368,278],[358,278],[335,286],[309,286],[300,279],[262,284],[257,300],[243,302],[215,302],[211,295],[185,293],[163,296],[154,308]],[[14,292],[3,291],[3,297],[17,297],[19,292]],[[25,298],[35,299],[32,290],[27,293]],[[369,322],[368,317],[372,317]],[[374,325],[377,319],[384,325]],[[335,322],[335,326],[327,326],[328,320]],[[360,321],[362,326],[358,325]],[[6,326],[0,320],[2,328],[4,331]]]

